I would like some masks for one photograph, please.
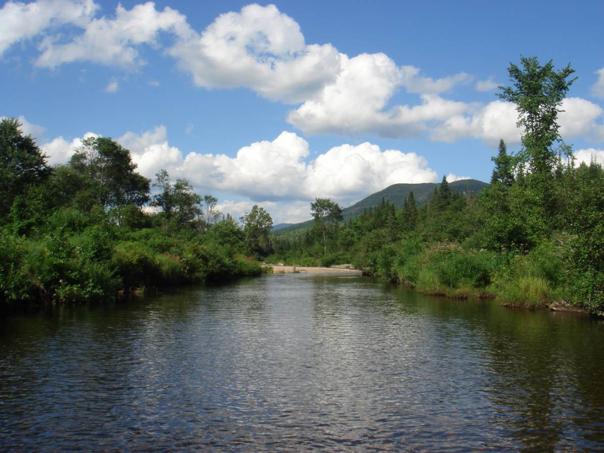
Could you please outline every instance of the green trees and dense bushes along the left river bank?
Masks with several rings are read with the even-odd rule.
[[[272,227],[263,207],[239,223],[187,179],[141,176],[111,138],[87,138],[52,167],[20,127],[0,121],[1,302],[106,300],[260,273]]]

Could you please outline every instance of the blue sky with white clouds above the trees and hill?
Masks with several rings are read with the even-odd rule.
[[[0,116],[48,156],[111,137],[238,218],[349,206],[394,183],[489,181],[521,55],[577,80],[559,114],[604,163],[602,1],[37,0],[0,7]]]

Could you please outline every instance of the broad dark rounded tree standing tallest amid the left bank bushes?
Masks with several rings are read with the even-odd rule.
[[[130,151],[111,138],[84,139],[69,165],[88,178],[92,196],[106,208],[149,201],[150,180],[137,173]]]

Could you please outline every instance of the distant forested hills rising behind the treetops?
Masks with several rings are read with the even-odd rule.
[[[357,217],[358,215],[362,214],[365,209],[377,206],[377,204],[382,201],[382,198],[385,198],[386,200],[390,201],[390,203],[394,204],[396,209],[401,209],[403,207],[405,197],[408,197],[411,192],[413,192],[416,203],[418,205],[423,204],[428,201],[428,197],[434,192],[434,186],[438,185],[440,185],[440,183],[393,184],[382,191],[375,192],[374,194],[363,198],[361,201],[358,201],[352,206],[345,207],[342,209],[342,217],[344,217],[344,220]],[[487,186],[487,183],[478,181],[476,179],[462,179],[460,181],[449,183],[449,187],[452,191],[459,192],[461,194],[467,194],[469,192],[472,194],[478,194],[478,192]],[[278,233],[288,233],[302,228],[311,227],[312,222],[313,220],[307,220],[305,222],[280,227]],[[273,230],[275,230],[275,228],[273,228]]]

